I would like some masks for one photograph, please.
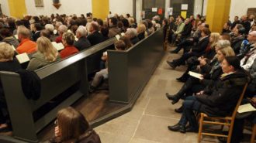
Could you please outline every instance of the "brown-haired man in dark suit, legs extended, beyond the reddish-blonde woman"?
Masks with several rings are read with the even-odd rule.
[[[185,60],[188,60],[192,56],[202,56],[209,44],[209,35],[210,31],[208,28],[202,29],[199,42],[193,46],[192,49],[190,49],[189,53],[184,53],[179,59],[173,60],[172,62],[167,61],[169,66],[171,66],[172,69],[175,69],[176,66],[181,66],[183,63],[185,63]]]

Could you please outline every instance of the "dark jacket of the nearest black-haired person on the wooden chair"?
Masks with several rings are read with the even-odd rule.
[[[200,111],[209,116],[232,114],[248,81],[249,77],[244,70],[237,70],[220,78],[213,88],[205,90],[202,95],[195,96],[201,104]]]

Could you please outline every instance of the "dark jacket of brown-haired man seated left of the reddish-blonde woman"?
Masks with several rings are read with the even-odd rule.
[[[199,39],[199,42],[192,47],[192,52],[195,53],[195,56],[202,56],[202,54],[205,53],[205,50],[208,44],[209,44],[208,36],[205,38]]]

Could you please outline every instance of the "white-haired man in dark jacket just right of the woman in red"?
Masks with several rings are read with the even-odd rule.
[[[74,43],[74,46],[79,50],[87,49],[91,46],[91,43],[86,38],[87,31],[85,26],[79,26],[76,32],[76,36],[78,38],[78,41]]]

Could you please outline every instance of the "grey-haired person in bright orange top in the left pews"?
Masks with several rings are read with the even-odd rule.
[[[18,39],[20,41],[16,51],[20,53],[34,53],[36,52],[36,43],[30,39],[30,31],[25,26],[18,27]]]

